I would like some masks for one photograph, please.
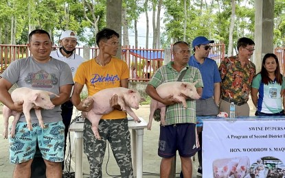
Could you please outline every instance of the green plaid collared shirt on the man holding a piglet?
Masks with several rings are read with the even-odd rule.
[[[163,83],[177,81],[181,75],[181,72],[187,70],[181,81],[192,83],[194,81],[198,81],[195,87],[203,87],[202,76],[198,68],[187,65],[180,72],[178,72],[172,68],[172,64],[173,62],[169,62],[168,64],[161,66],[155,75],[152,76],[152,79],[150,79],[148,84],[157,88]],[[173,125],[177,123],[196,123],[195,101],[187,100],[187,108],[184,108],[182,103],[168,105],[168,109],[166,110],[166,125]]]

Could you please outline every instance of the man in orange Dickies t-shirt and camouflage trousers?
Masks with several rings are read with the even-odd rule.
[[[128,88],[129,70],[126,62],[115,58],[119,44],[119,34],[113,29],[102,29],[96,35],[99,55],[83,62],[74,77],[74,89],[71,97],[73,105],[80,111],[89,112],[93,105],[82,107],[80,92],[84,84],[91,96],[105,88]],[[102,140],[96,140],[87,119],[84,123],[84,153],[90,164],[90,177],[102,177],[102,162],[106,150],[106,141],[111,145],[115,160],[121,171],[121,177],[133,177],[130,152],[130,131],[126,112],[113,110],[102,116],[98,131]]]

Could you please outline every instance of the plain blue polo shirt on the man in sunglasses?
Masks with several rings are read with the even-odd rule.
[[[210,58],[205,58],[203,64],[200,64],[195,56],[192,55],[188,64],[198,68],[201,72],[204,85],[201,99],[214,97],[214,84],[221,81],[216,62]]]

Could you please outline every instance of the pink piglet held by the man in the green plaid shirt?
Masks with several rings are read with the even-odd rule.
[[[200,99],[200,96],[195,88],[195,84],[197,84],[197,82],[198,81],[195,81],[194,83],[182,82],[182,81],[166,82],[158,86],[156,90],[157,94],[159,94],[159,97],[161,97],[162,99],[170,96],[170,94],[173,94],[173,97],[181,101],[184,108],[187,108],[186,100],[183,96],[181,96],[181,94],[184,94],[186,97],[190,97],[192,99]],[[160,103],[159,101],[156,101],[155,99],[151,99],[148,130],[151,129],[153,114],[155,113],[155,110],[157,110],[158,108],[161,109],[160,112],[161,125],[164,126],[166,124],[165,121],[166,105]]]

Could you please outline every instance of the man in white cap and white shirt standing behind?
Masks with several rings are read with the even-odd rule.
[[[60,48],[56,51],[52,51],[52,53],[50,54],[52,58],[55,58],[56,60],[61,60],[69,65],[72,72],[72,77],[74,77],[74,75],[76,74],[78,66],[82,62],[84,62],[84,59],[80,55],[77,55],[73,52],[76,49],[77,39],[78,37],[76,36],[76,33],[74,31],[63,31],[59,39]],[[71,122],[73,112],[73,104],[71,103],[71,101],[69,100],[63,103],[61,105],[61,110],[62,121],[65,124],[66,149],[68,127]],[[63,168],[64,166],[62,164],[62,170]]]

